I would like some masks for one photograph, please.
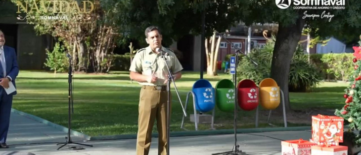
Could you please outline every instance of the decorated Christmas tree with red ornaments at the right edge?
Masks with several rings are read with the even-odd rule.
[[[360,35],[361,40],[361,35]],[[345,105],[341,109],[336,109],[335,115],[348,121],[349,131],[344,133],[345,141],[352,143],[352,146],[361,146],[360,134],[354,134],[351,131],[361,130],[361,41],[359,46],[354,46],[355,67],[354,74],[350,76],[350,85],[345,89]]]

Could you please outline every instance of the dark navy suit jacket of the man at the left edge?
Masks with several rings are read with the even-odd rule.
[[[6,63],[6,76],[10,76],[12,84],[15,86],[15,79],[19,74],[19,66],[17,64],[17,57],[15,49],[9,46],[3,46]],[[5,76],[5,77],[6,77]],[[0,78],[3,78],[2,66],[0,63]],[[3,90],[3,89],[2,89]],[[4,91],[4,90],[3,90]],[[17,92],[10,93],[9,95],[15,95]]]

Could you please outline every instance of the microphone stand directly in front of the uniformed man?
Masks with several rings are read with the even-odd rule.
[[[168,106],[168,107],[167,107],[167,155],[170,155],[170,154],[169,154],[169,137],[170,137],[170,116],[171,116],[171,114],[170,114],[170,111],[171,111],[171,105],[170,105],[170,99],[171,99],[171,80],[172,80],[172,82],[173,82],[173,84],[174,84],[174,88],[176,89],[176,93],[177,93],[178,99],[179,99],[179,101],[181,102],[181,107],[182,107],[182,110],[183,110],[183,115],[184,115],[185,117],[187,117],[187,114],[185,113],[185,110],[184,110],[184,107],[183,107],[183,104],[182,104],[182,101],[181,101],[181,97],[180,97],[180,95],[179,95],[179,93],[178,93],[178,89],[177,89],[176,83],[174,82],[174,77],[173,77],[172,72],[171,72],[171,70],[169,69],[168,63],[167,63],[167,61],[166,61],[167,59],[166,59],[165,55],[169,56],[169,54],[166,53],[166,52],[160,51],[160,50],[159,50],[159,52],[161,52],[162,58],[163,58],[163,60],[164,60],[164,63],[166,64],[167,70],[168,70],[168,82],[167,82],[167,93],[168,93],[168,99],[167,99],[167,106]]]

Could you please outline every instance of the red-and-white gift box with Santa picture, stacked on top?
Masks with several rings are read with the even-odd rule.
[[[312,116],[312,141],[317,144],[343,142],[344,119],[337,116]]]

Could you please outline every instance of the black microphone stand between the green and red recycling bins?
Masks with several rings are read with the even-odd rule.
[[[238,47],[235,47],[233,45],[232,42],[230,42],[229,40],[226,39],[226,37],[223,37],[223,35],[226,33],[219,33],[219,36],[222,37],[223,39],[226,40],[227,43],[229,43],[233,48],[234,48],[234,53],[235,53],[235,71],[234,71],[234,75],[233,75],[233,82],[234,82],[234,122],[233,122],[233,128],[234,128],[234,146],[232,151],[227,151],[227,152],[223,152],[223,153],[217,153],[217,154],[212,154],[212,155],[247,155],[245,153],[242,152],[242,150],[238,150],[239,148],[239,144],[237,144],[237,95],[238,95],[238,89],[237,89],[237,64],[238,64],[238,54],[241,53],[244,56],[246,56],[246,58],[248,58],[251,62],[253,62],[256,66],[258,65],[257,62],[253,61],[251,58],[249,58],[245,53],[243,53],[241,51],[241,49],[239,49]]]

